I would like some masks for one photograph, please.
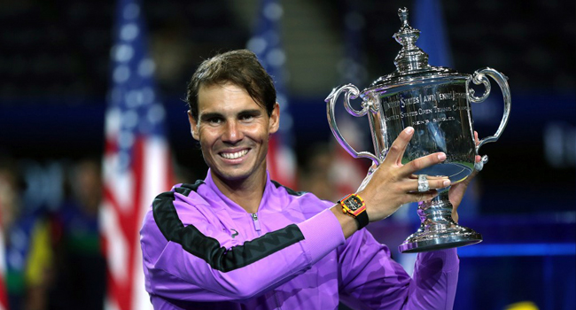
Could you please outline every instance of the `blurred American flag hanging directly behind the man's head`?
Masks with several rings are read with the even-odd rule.
[[[280,104],[280,128],[271,136],[267,157],[270,177],[295,189],[296,159],[292,149],[292,115],[284,86],[286,54],[282,47],[280,21],[282,5],[277,0],[261,0],[258,23],[252,38],[246,44],[259,58],[262,66],[272,76],[276,85],[276,100]]]

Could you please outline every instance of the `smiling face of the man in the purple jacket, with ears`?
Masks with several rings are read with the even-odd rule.
[[[279,125],[279,108],[271,116],[245,89],[232,83],[198,90],[198,121],[191,132],[213,174],[222,182],[244,181],[266,173],[269,135]]]

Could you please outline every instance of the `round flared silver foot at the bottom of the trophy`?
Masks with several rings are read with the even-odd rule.
[[[448,229],[439,230],[423,229],[421,227],[416,233],[409,236],[398,247],[398,250],[402,253],[428,252],[478,244],[481,241],[482,235],[473,229],[457,224]]]

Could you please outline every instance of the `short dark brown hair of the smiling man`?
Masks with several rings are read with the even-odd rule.
[[[272,77],[250,50],[230,50],[204,60],[192,75],[186,102],[194,120],[198,120],[198,91],[203,86],[230,82],[244,88],[250,97],[272,114],[276,89]]]

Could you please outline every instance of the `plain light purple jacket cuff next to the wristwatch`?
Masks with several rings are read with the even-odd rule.
[[[301,222],[298,227],[304,236],[302,244],[304,250],[309,253],[311,264],[321,260],[346,241],[342,227],[330,209]]]

